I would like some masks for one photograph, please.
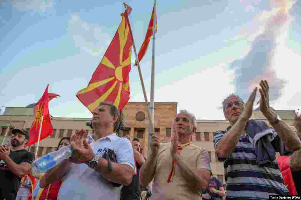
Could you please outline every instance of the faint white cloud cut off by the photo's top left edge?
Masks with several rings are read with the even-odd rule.
[[[25,11],[45,11],[51,9],[54,5],[52,0],[11,0],[11,4],[17,10]]]

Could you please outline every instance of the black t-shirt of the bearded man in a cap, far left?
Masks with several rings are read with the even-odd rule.
[[[35,159],[34,155],[25,150],[13,151],[9,157],[16,163],[28,162],[31,164]],[[13,174],[3,160],[0,161],[0,198],[15,199],[19,189],[21,179]]]

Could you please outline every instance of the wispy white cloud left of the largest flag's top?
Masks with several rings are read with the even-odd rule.
[[[78,14],[71,14],[69,31],[76,46],[93,56],[104,54],[112,39],[98,24],[87,23]]]

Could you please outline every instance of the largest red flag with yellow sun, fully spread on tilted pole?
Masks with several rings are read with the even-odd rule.
[[[76,94],[91,112],[103,101],[113,103],[119,110],[129,101],[132,36],[128,10],[122,14],[117,32],[88,86]]]

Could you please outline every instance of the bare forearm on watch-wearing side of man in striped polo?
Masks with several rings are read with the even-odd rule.
[[[284,121],[278,122],[277,124],[272,124],[277,115],[271,110],[267,111],[264,115],[288,149],[292,151],[301,149],[301,141],[289,125],[287,125]]]

